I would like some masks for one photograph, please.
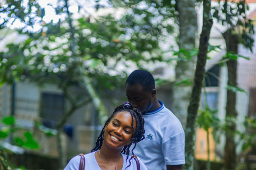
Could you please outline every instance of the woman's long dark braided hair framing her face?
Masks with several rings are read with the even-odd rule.
[[[124,146],[124,148],[122,149],[121,153],[127,155],[126,160],[128,159],[128,156],[130,155],[130,147],[132,145],[132,143],[134,143],[134,147],[132,148],[131,152],[132,155],[134,155],[133,150],[136,147],[136,144],[145,139],[144,133],[144,119],[142,114],[140,113],[139,109],[137,108],[133,108],[132,105],[130,103],[124,103],[122,105],[119,105],[115,108],[115,111],[111,114],[111,116],[108,118],[108,120],[106,121],[104,127],[102,128],[100,135],[97,139],[96,142],[96,146],[91,150],[91,152],[100,150],[103,140],[104,140],[104,132],[105,132],[105,127],[106,125],[110,122],[110,120],[118,113],[121,111],[127,111],[131,114],[132,116],[132,142],[129,145]],[[136,123],[136,131],[134,131],[133,129],[133,122],[135,120]],[[132,159],[132,158],[131,158]],[[131,159],[129,160],[130,165],[131,165]],[[130,166],[129,165],[129,166]],[[128,167],[129,167],[128,166]]]

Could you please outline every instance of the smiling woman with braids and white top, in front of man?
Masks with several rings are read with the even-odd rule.
[[[105,123],[95,148],[85,156],[85,170],[135,170],[135,159],[129,156],[130,147],[143,140],[144,120],[139,109],[133,108],[130,103],[119,105]],[[78,170],[80,156],[70,160],[64,170]],[[147,170],[140,161],[140,169]]]

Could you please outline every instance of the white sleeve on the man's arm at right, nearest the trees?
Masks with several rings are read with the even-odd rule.
[[[162,143],[162,152],[166,165],[185,164],[185,134],[180,132]]]

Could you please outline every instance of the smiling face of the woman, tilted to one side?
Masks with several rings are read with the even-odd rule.
[[[135,132],[136,121],[133,121]],[[114,115],[106,125],[103,143],[116,149],[122,149],[131,143],[132,137],[132,116],[127,111],[121,111]]]

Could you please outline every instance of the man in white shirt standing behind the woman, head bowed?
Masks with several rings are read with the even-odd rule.
[[[185,134],[178,118],[156,98],[155,80],[145,70],[133,71],[125,82],[128,101],[145,120],[145,139],[134,154],[149,170],[181,170],[185,164]]]

